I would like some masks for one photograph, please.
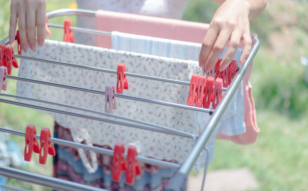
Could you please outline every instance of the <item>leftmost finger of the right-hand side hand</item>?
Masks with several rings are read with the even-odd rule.
[[[199,66],[205,67],[205,64],[208,61],[211,50],[214,46],[214,43],[218,36],[218,29],[216,27],[211,27],[207,31],[204,40],[202,42],[202,46],[199,54]]]

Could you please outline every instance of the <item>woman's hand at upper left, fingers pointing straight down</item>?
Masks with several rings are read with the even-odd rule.
[[[34,50],[37,43],[44,44],[46,31],[46,0],[12,0],[9,28],[9,43],[15,40],[18,20],[21,47],[27,51],[30,47]]]

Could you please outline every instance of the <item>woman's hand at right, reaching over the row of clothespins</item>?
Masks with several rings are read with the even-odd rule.
[[[227,68],[243,40],[240,61],[243,64],[252,46],[249,27],[251,5],[246,0],[225,0],[217,9],[207,31],[199,55],[199,65],[210,72],[216,65],[228,41],[228,49],[220,63],[220,71]]]

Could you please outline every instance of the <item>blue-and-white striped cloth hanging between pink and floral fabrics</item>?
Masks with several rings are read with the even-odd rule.
[[[184,60],[198,60],[201,49],[201,44],[198,43],[128,34],[117,31],[111,33],[111,38],[113,49]],[[223,58],[226,51],[227,48],[224,48],[220,58]],[[241,54],[242,49],[238,48],[233,57],[233,60],[238,62],[239,67],[241,66]],[[192,74],[193,71],[189,71],[189,77]],[[209,118],[209,115],[202,112],[199,113],[199,126],[201,130],[204,129]],[[219,129],[218,133],[227,136],[245,133],[246,125],[244,122],[243,82],[241,82],[217,126]],[[213,139],[215,139],[215,136],[216,134],[214,133],[212,136]],[[212,159],[212,155],[210,159]]]

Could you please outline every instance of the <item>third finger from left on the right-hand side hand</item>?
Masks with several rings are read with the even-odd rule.
[[[227,49],[222,61],[220,62],[220,65],[219,65],[220,71],[225,70],[228,67],[228,65],[230,64],[230,62],[232,61],[232,59],[235,55],[235,52],[240,45],[241,37],[242,37],[241,32],[239,32],[239,31],[233,31],[232,32],[230,42],[229,42],[229,45],[228,45],[228,49]]]

